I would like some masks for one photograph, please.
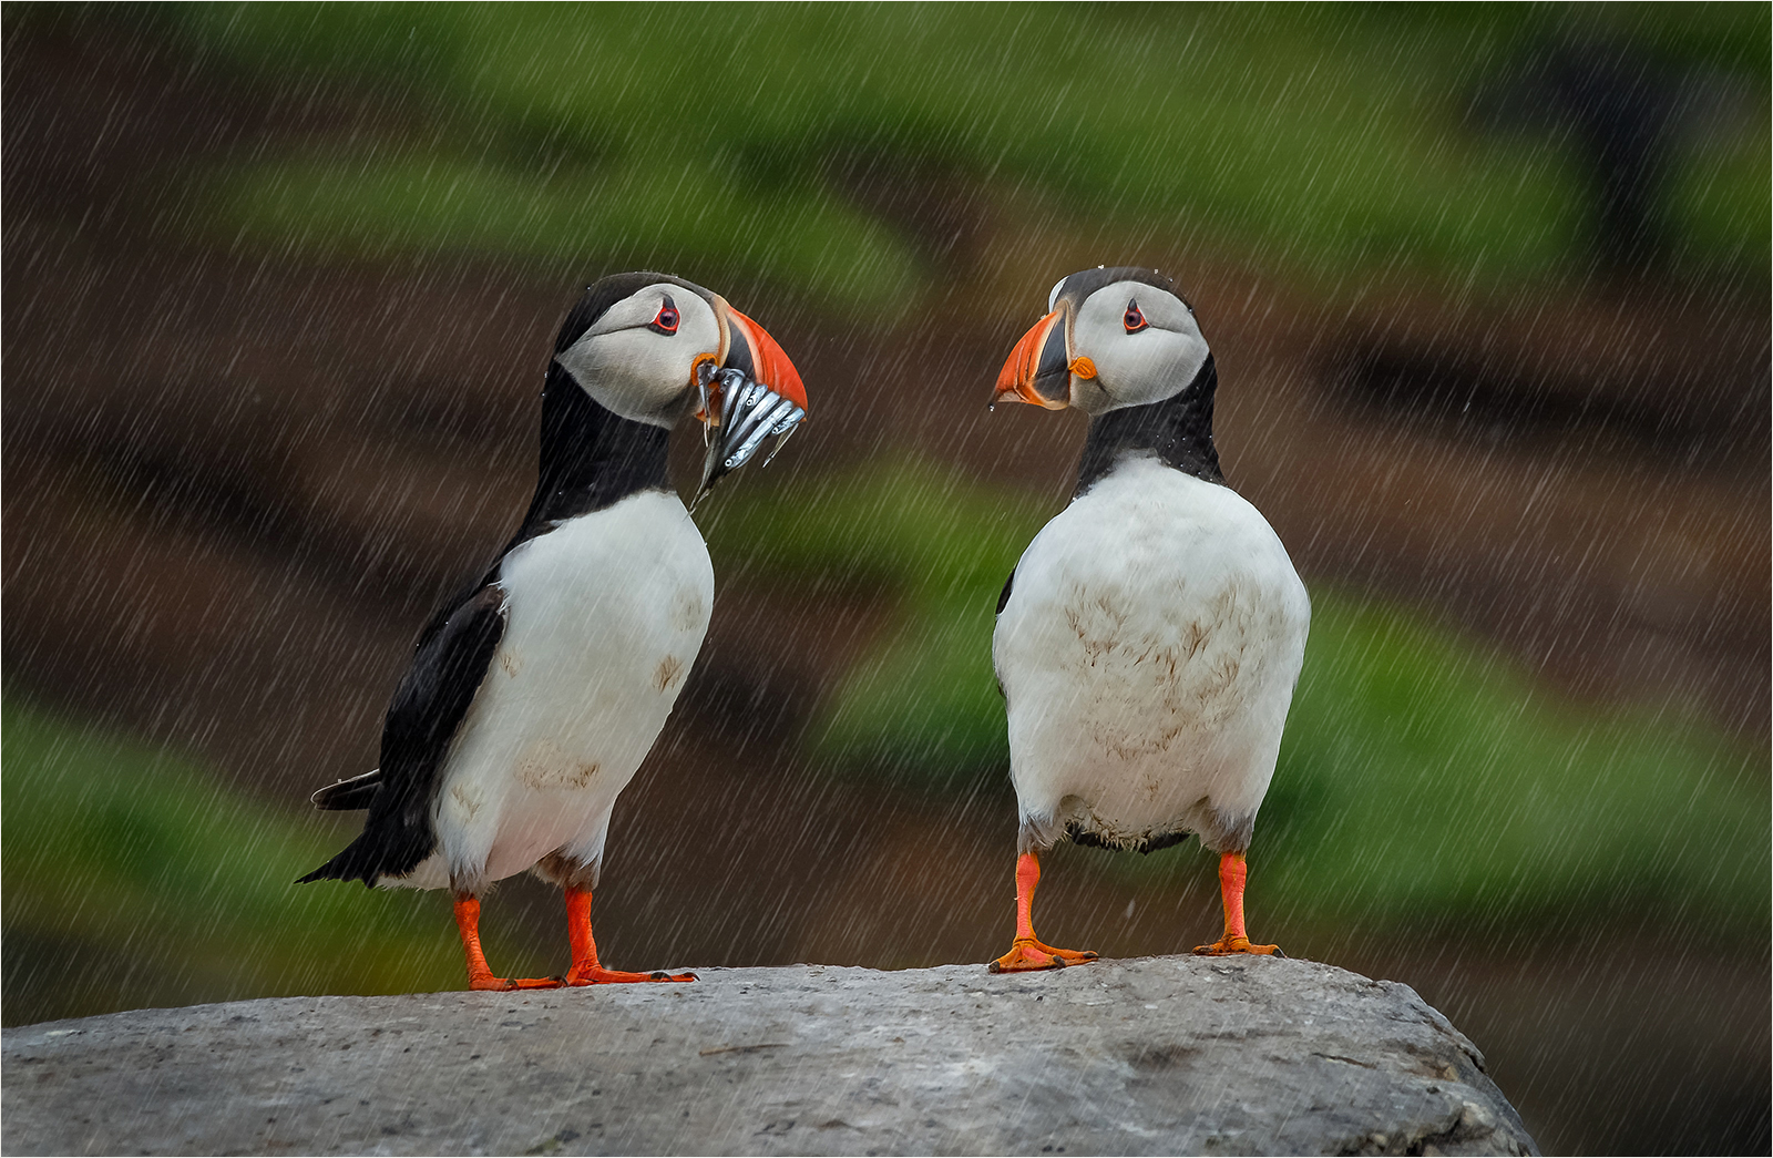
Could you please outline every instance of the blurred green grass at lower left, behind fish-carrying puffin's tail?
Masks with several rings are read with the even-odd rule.
[[[5,1020],[461,984],[449,906],[294,885],[342,841],[215,773],[4,706]],[[353,818],[355,821],[355,818]]]

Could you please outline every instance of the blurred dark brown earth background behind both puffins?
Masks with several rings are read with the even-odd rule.
[[[580,280],[484,255],[266,254],[184,216],[181,163],[395,131],[399,103],[294,99],[152,37],[16,23],[4,83],[7,692],[296,807],[374,764],[417,626],[528,498],[539,356]],[[817,399],[777,482],[892,450],[1057,504],[1082,422],[988,415],[984,383],[1030,287],[1115,238],[1030,227],[940,174],[867,184],[949,238],[904,321],[778,321],[768,287],[723,287],[808,383],[856,383]],[[1578,702],[1766,741],[1764,286],[1622,278],[1498,303],[1397,277],[1312,294],[1236,250],[1142,252],[1188,268],[1225,383],[1227,473],[1312,583],[1425,608]],[[603,943],[722,965],[995,952],[1007,786],[832,779],[793,743],[890,624],[865,587],[722,576],[676,724],[617,809]],[[340,841],[355,826],[314,823]],[[1215,924],[1202,878],[1128,904],[1092,857],[1057,858],[1043,887],[1044,920],[1073,940],[1174,952]],[[555,904],[528,881],[498,894],[507,954],[551,952]],[[1548,1153],[1660,1149],[1645,1138],[1675,1123],[1695,1147],[1766,1137],[1764,952],[1670,961],[1651,931],[1308,936],[1289,949],[1443,1009]],[[9,1023],[21,1004],[57,1011],[34,993],[9,991]],[[1660,1082],[1681,1084],[1684,1117],[1610,1092]]]

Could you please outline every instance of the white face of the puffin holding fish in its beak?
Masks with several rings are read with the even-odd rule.
[[[720,356],[715,307],[693,289],[660,282],[612,305],[555,362],[605,408],[670,427],[702,355]]]

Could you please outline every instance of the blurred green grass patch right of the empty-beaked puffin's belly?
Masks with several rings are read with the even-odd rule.
[[[1259,826],[1314,917],[1769,927],[1768,754],[1562,704],[1427,621],[1319,591]]]

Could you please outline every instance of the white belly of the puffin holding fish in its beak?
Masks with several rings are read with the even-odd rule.
[[[505,637],[436,805],[449,871],[486,881],[557,849],[601,857],[702,647],[715,573],[677,497],[644,491],[521,544],[500,585]]]

